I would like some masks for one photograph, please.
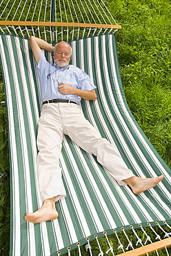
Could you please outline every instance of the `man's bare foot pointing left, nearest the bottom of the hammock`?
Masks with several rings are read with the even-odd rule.
[[[52,221],[57,219],[58,213],[55,208],[55,198],[46,199],[39,210],[33,213],[27,213],[25,220],[32,223],[40,223],[43,221]]]

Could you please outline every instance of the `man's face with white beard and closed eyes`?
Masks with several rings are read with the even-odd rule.
[[[54,63],[56,63],[60,68],[68,66],[71,57],[71,48],[70,45],[61,42],[57,45],[57,48],[54,52]]]

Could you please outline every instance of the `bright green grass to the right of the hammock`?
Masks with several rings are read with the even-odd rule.
[[[112,7],[113,6],[113,7]],[[141,129],[171,167],[171,3],[112,1],[123,89]]]

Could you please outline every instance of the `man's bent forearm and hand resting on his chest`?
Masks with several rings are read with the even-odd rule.
[[[84,100],[97,100],[97,94],[94,90],[83,91],[81,89],[74,88],[69,84],[59,84],[58,88],[61,94],[74,94],[83,98]]]

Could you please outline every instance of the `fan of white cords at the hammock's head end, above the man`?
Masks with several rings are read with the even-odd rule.
[[[0,15],[1,21],[30,21],[30,22],[56,22],[56,23],[71,23],[73,26],[63,25],[61,28],[57,26],[46,25],[13,25],[3,24],[0,25],[0,30],[3,33],[15,33],[23,37],[31,35],[45,39],[46,41],[69,40],[79,37],[89,37],[90,35],[100,35],[113,33],[114,28],[112,24],[117,25],[112,15],[110,14],[106,4],[99,0],[26,0],[26,1],[1,1],[1,9],[3,10]],[[8,11],[7,11],[8,10]],[[60,20],[60,21],[59,21]],[[1,22],[0,21],[0,22]],[[79,24],[79,26],[77,26]],[[88,26],[83,26],[87,24]],[[91,24],[100,24],[103,26],[94,27]],[[105,25],[111,25],[110,28]],[[2,26],[2,27],[1,27]],[[49,28],[50,27],[50,28]],[[60,31],[61,30],[61,31]],[[116,31],[116,27],[114,32]],[[55,37],[56,34],[56,37]]]

